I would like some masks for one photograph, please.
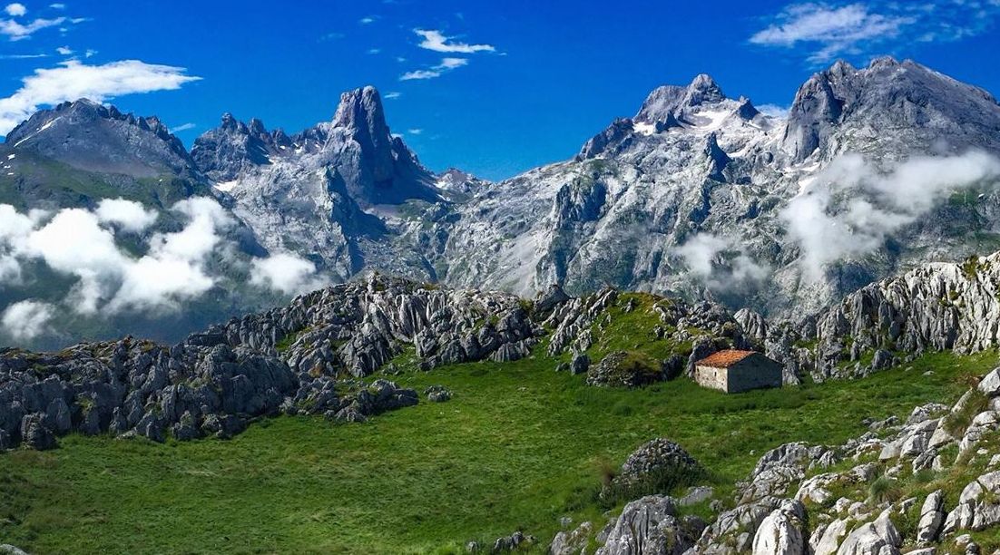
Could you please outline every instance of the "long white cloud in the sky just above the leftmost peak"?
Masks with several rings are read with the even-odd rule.
[[[200,77],[185,75],[181,67],[123,60],[86,65],[68,60],[59,67],[36,69],[21,80],[13,95],[0,99],[0,134],[6,134],[43,105],[89,98],[103,102],[133,93],[176,90]]]

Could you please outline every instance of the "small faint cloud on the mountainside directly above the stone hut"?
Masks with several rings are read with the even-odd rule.
[[[710,233],[691,237],[676,247],[674,253],[684,260],[695,277],[716,291],[759,283],[771,272],[766,264],[742,252],[736,240]]]

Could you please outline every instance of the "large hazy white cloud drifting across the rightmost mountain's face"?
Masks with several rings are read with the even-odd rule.
[[[833,262],[875,252],[949,195],[996,190],[998,178],[1000,160],[977,151],[911,158],[889,171],[849,154],[831,162],[781,218],[800,246],[803,274],[815,281]]]

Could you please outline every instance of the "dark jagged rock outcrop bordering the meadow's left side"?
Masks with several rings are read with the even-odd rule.
[[[125,338],[58,353],[3,349],[0,444],[47,449],[71,431],[229,437],[279,413],[364,421],[417,403],[415,391],[393,382],[354,379],[404,348],[431,368],[483,360],[536,331],[516,297],[372,276],[172,347]],[[450,393],[427,395],[442,401]]]

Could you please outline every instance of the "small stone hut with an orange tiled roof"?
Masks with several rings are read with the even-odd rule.
[[[781,364],[757,351],[727,349],[694,363],[694,381],[726,393],[781,387]]]

